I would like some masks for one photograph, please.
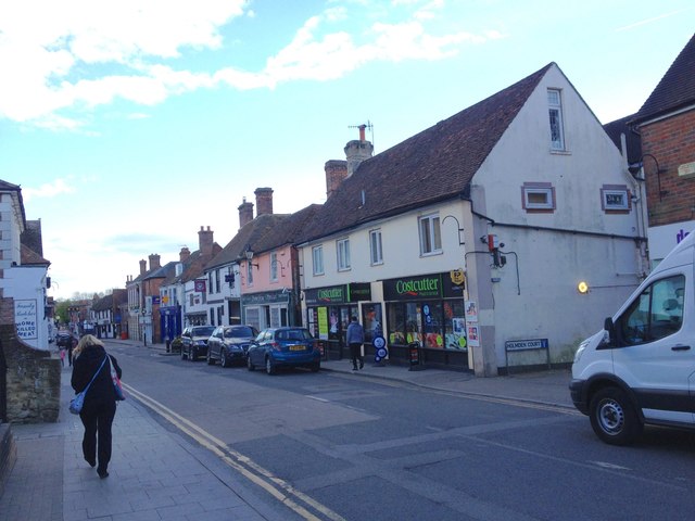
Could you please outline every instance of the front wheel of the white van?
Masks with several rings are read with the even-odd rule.
[[[628,398],[618,387],[598,391],[589,406],[591,427],[610,445],[630,445],[642,432],[642,422]]]

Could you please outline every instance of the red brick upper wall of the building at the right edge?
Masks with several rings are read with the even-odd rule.
[[[695,219],[695,176],[680,177],[678,173],[680,165],[695,162],[695,111],[645,125],[640,130],[649,226]],[[659,176],[656,162],[646,154],[657,158]]]

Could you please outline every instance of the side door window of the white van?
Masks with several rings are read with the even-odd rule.
[[[683,325],[684,292],[682,275],[647,287],[616,321],[621,344],[644,344],[678,332]]]

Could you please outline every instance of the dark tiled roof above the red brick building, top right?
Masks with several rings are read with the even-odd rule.
[[[634,122],[640,123],[695,102],[695,35],[644,102]]]

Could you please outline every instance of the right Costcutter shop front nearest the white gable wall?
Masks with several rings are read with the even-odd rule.
[[[417,343],[422,363],[468,369],[463,270],[382,281],[389,358],[407,361]]]

